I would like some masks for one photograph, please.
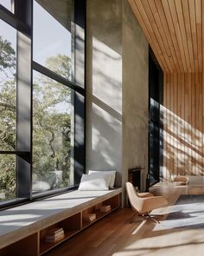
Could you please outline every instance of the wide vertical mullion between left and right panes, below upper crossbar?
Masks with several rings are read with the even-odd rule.
[[[31,152],[31,40],[17,32],[16,150]],[[16,155],[16,197],[31,196],[31,159]]]

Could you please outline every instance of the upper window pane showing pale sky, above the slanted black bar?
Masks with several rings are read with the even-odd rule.
[[[34,60],[69,80],[72,79],[71,15],[71,0],[34,1]]]

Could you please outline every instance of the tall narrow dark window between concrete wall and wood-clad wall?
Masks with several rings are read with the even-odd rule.
[[[150,51],[149,56],[149,184],[160,181],[163,128],[161,104],[163,101],[163,71]]]

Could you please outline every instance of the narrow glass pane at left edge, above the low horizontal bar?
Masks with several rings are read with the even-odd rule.
[[[0,20],[0,150],[16,149],[16,30]]]

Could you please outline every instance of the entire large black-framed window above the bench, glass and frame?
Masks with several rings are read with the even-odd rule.
[[[85,169],[82,2],[0,0],[0,206],[67,191]]]

